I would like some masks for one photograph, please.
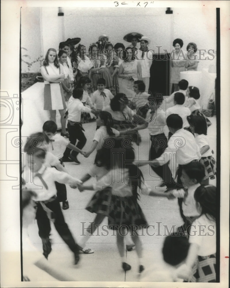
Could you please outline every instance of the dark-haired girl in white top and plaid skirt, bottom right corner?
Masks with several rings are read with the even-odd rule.
[[[185,282],[216,282],[216,187],[199,186],[194,198],[201,215],[192,223],[188,256],[177,276]]]

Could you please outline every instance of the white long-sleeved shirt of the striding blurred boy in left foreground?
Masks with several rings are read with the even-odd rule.
[[[48,186],[48,189],[46,189],[45,185],[43,185],[41,179],[36,176],[37,173],[41,174],[41,177]],[[27,175],[32,177],[32,183],[27,181]],[[26,188],[33,190],[37,194],[37,197],[33,198],[35,201],[49,200],[55,196],[57,193],[55,181],[69,185],[77,185],[77,183],[82,183],[79,179],[74,178],[65,172],[58,171],[55,168],[45,167],[44,165],[42,165],[41,168],[35,173],[29,169],[25,170],[22,178],[25,181]]]

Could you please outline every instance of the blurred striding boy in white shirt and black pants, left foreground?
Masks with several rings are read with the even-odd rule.
[[[28,149],[29,145],[30,144],[28,144],[28,147],[25,148]],[[48,255],[52,250],[49,238],[51,231],[50,220],[48,219],[46,213],[47,207],[54,212],[54,226],[58,234],[74,253],[74,263],[77,264],[79,261],[79,249],[68,228],[68,225],[65,223],[60,204],[56,197],[57,190],[55,181],[63,184],[69,184],[72,188],[77,187],[77,184],[81,183],[81,181],[67,173],[57,171],[55,168],[45,167],[43,164],[45,162],[46,151],[41,148],[33,148],[33,146],[31,146],[31,149],[33,150],[33,157],[31,157],[30,161],[28,161],[28,167],[26,167],[24,170],[22,178],[25,180],[27,175],[29,175],[29,177],[33,177],[32,182],[26,181],[26,189],[34,189],[34,187],[38,187],[35,190],[37,194],[35,199],[37,202],[36,219],[39,228],[39,236],[43,244],[43,255],[45,258],[48,258]]]

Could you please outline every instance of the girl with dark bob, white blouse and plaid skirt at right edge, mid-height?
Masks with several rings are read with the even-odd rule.
[[[207,185],[210,179],[215,179],[216,175],[216,160],[212,157],[213,151],[210,148],[207,137],[207,123],[203,116],[192,116],[190,127],[195,133],[195,140],[200,148],[202,163],[205,167],[205,177],[202,179],[201,184]]]

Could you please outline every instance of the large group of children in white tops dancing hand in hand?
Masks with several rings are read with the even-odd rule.
[[[184,220],[184,225],[178,231],[183,233],[183,238],[180,233],[166,238],[163,247],[164,260],[173,266],[183,264],[176,269],[177,278],[190,282],[214,282],[216,188],[208,184],[209,178],[215,177],[216,162],[208,143],[207,120],[199,112],[200,107],[197,102],[200,97],[199,89],[191,86],[188,88],[188,82],[181,80],[180,90],[166,100],[163,97],[147,94],[142,81],[134,82],[137,91],[136,99],[143,98],[143,101],[135,101],[134,97],[130,111],[127,113],[130,118],[138,116],[138,121],[135,122],[134,117],[130,121],[135,125],[118,131],[113,128],[114,118],[107,108],[109,106],[111,112],[119,112],[113,106],[117,103],[121,117],[127,120],[123,112],[125,109],[122,98],[129,99],[124,94],[123,97],[121,95],[114,97],[105,88],[103,78],[97,80],[98,90],[90,97],[87,92],[90,81],[88,77],[81,77],[69,99],[65,115],[68,121],[69,140],[56,133],[55,122],[46,121],[43,125],[43,132],[31,135],[24,146],[25,153],[33,151],[33,158],[28,165],[25,165],[22,179],[24,187],[35,192],[32,199],[37,207],[36,219],[39,236],[43,243],[43,255],[48,258],[51,252],[49,217],[54,218],[57,232],[73,251],[75,264],[79,261],[79,250],[87,254],[94,252],[86,248],[86,242],[96,226],[104,217],[108,217],[108,227],[116,231],[117,247],[123,270],[131,269],[130,264],[126,263],[124,246],[124,238],[126,238],[124,232],[128,230],[131,238],[127,237],[126,248],[132,250],[132,247],[136,247],[139,259],[138,272],[142,273],[145,267],[138,229],[146,228],[148,223],[138,204],[140,194],[168,199],[178,198],[180,215]],[[167,103],[174,101],[174,106],[164,111],[162,107],[165,101]],[[89,107],[86,107],[85,103]],[[89,113],[96,115],[96,131],[90,149],[82,151],[86,143],[82,119],[87,118]],[[125,144],[129,141],[134,142],[130,131],[136,133],[139,129],[146,128],[147,125],[149,125],[151,139],[149,160],[152,160],[152,163],[150,166],[162,178],[161,187],[165,187],[164,192],[155,189],[151,184],[147,187],[140,167],[134,162],[135,153],[132,145]],[[39,141],[36,142],[34,139]],[[113,143],[113,152],[108,143]],[[63,162],[80,164],[77,155],[81,153],[87,158],[94,150],[96,150],[95,161],[87,174],[77,179],[67,173]],[[32,175],[33,183],[25,181],[26,175],[27,177]],[[86,185],[85,182],[91,177],[96,178],[96,183]],[[96,217],[88,227],[87,235],[81,236],[78,244],[65,223],[58,203],[62,202],[62,209],[69,208],[65,184],[69,184],[71,188],[78,188],[80,192],[95,191],[86,210],[96,213]],[[40,188],[35,188],[36,186]],[[213,235],[209,238],[198,237],[199,225],[204,225],[206,228],[212,226]],[[186,249],[180,257],[177,257],[174,249],[176,251],[180,244],[181,248]],[[210,266],[208,272],[211,271],[211,273],[203,271],[204,266]],[[154,274],[154,271],[152,272]],[[152,281],[151,277],[148,279],[145,281]]]

